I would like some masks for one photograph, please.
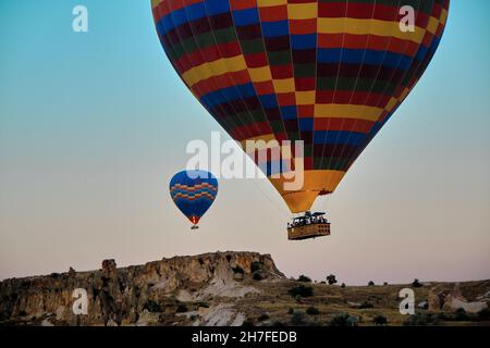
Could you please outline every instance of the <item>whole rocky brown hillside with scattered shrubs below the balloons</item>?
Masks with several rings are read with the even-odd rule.
[[[308,281],[308,279],[304,279]],[[413,288],[416,315],[399,311]],[[75,315],[75,288],[87,314]],[[0,283],[0,325],[489,325],[490,281],[345,286],[286,278],[269,254],[216,252]],[[462,310],[460,308],[464,308]]]

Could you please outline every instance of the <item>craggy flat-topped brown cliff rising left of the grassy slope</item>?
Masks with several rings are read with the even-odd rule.
[[[0,322],[39,325],[136,325],[243,322],[230,306],[212,308],[213,298],[257,294],[254,279],[283,278],[269,254],[216,252],[174,257],[118,269],[105,260],[100,270],[52,273],[0,283]],[[76,288],[86,290],[87,314],[75,315]],[[193,313],[195,312],[195,313]],[[192,313],[175,315],[175,313]],[[172,322],[174,324],[174,322]]]

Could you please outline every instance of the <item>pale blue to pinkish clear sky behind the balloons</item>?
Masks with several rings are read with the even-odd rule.
[[[197,232],[174,207],[187,142],[229,136],[164,57],[149,2],[0,0],[0,279],[217,250],[346,284],[490,278],[488,0],[451,1],[426,74],[315,206],[332,235],[299,243],[265,179],[221,179]]]

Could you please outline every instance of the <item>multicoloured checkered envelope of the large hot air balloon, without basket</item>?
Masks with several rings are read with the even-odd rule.
[[[256,158],[292,212],[331,194],[404,101],[448,11],[449,0],[152,0],[170,62],[235,140],[304,141],[301,189]]]

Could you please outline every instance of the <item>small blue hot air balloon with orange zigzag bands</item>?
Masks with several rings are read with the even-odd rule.
[[[192,229],[211,207],[218,194],[218,181],[206,171],[182,171],[170,181],[170,196],[180,211],[193,223]]]

